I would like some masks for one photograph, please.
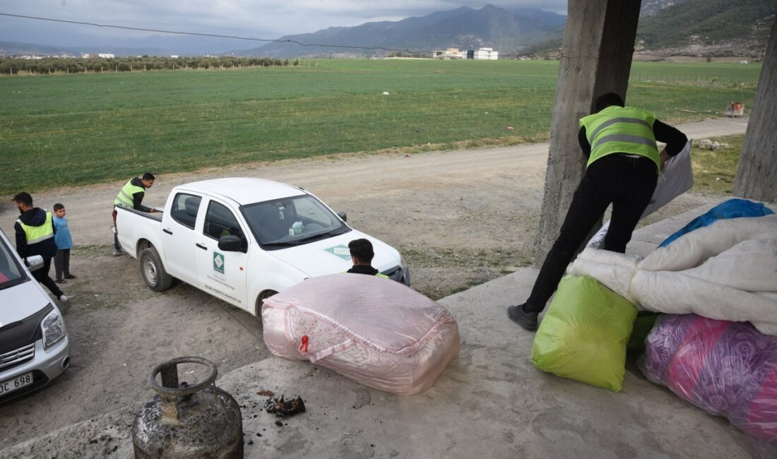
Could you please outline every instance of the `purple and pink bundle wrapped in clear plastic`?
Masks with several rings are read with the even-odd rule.
[[[749,322],[663,315],[639,360],[643,374],[758,440],[777,456],[777,337]]]

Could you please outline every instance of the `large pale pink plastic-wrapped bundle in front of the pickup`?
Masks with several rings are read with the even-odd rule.
[[[458,355],[458,325],[430,298],[364,274],[313,277],[264,300],[270,352],[309,360],[369,388],[413,395]]]

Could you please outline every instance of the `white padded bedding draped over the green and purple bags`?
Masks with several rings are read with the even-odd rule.
[[[777,335],[777,215],[716,221],[645,259],[587,248],[568,269],[637,308],[751,322]]]

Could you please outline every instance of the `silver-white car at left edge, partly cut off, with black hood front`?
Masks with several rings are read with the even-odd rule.
[[[44,264],[40,256],[27,262]],[[69,364],[61,311],[0,231],[0,403],[43,388]]]

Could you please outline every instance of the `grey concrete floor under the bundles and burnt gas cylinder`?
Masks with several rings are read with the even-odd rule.
[[[711,206],[709,206],[711,207]],[[635,232],[646,254],[709,207]],[[440,301],[457,318],[462,351],[430,390],[401,397],[332,371],[277,357],[225,374],[218,386],[242,405],[246,457],[751,457],[726,419],[709,416],[627,364],[611,392],[545,374],[530,360],[534,333],[505,308],[528,296],[537,270],[521,269]],[[300,395],[307,412],[262,411],[262,389]],[[140,405],[140,403],[138,404]],[[0,457],[131,457],[134,409],[60,429]],[[258,434],[261,434],[259,436]]]

